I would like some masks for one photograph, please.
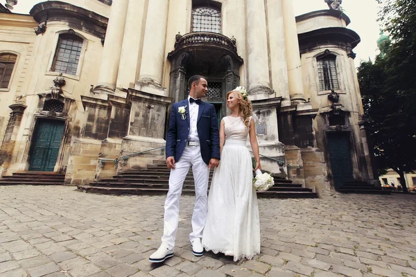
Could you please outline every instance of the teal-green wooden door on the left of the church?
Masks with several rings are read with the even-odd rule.
[[[37,120],[29,170],[53,171],[63,134],[64,121]]]

